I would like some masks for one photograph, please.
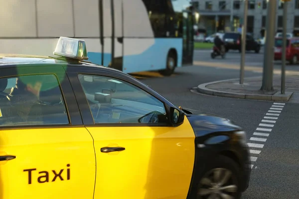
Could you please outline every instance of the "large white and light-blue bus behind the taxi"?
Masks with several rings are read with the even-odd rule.
[[[193,62],[190,0],[0,0],[0,53],[52,55],[60,36],[84,39],[89,61],[125,73]]]

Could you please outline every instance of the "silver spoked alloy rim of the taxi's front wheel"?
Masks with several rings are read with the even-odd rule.
[[[198,199],[235,199],[237,180],[224,168],[210,170],[199,182]]]

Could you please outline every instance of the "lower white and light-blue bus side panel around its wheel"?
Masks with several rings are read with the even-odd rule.
[[[149,46],[145,49],[145,46]],[[166,68],[170,49],[177,53],[177,67],[182,66],[182,38],[125,38],[124,72],[133,73]]]

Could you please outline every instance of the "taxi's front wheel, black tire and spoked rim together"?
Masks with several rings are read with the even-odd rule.
[[[207,199],[213,195],[218,195],[218,198],[225,198],[227,195],[232,199],[241,198],[240,169],[231,158],[222,155],[216,157],[203,173],[198,182],[197,199]],[[215,180],[217,175],[218,180]]]

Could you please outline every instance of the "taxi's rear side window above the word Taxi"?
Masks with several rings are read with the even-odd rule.
[[[55,75],[0,78],[0,126],[68,123]]]

